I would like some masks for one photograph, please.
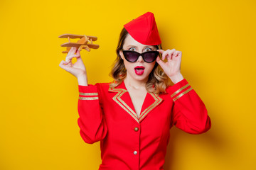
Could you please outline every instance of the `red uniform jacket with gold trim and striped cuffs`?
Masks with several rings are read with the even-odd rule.
[[[148,93],[139,118],[124,82],[79,86],[78,125],[82,139],[100,141],[100,170],[163,169],[169,130],[173,125],[200,134],[210,129],[201,98],[186,79],[165,94]]]

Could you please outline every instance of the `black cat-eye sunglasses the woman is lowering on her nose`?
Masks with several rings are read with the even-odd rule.
[[[142,56],[144,62],[154,62],[156,57],[159,55],[158,51],[148,51],[139,53],[136,51],[123,50],[125,60],[128,62],[136,62],[139,59],[139,56]]]

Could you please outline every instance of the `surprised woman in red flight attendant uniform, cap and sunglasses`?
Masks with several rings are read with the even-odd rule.
[[[210,129],[206,107],[181,74],[181,52],[161,50],[153,13],[124,25],[112,84],[88,85],[74,47],[60,67],[78,78],[80,135],[100,141],[100,169],[163,169],[173,125],[191,134]]]

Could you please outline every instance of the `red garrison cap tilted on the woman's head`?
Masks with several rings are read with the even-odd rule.
[[[124,25],[129,35],[144,45],[159,45],[161,39],[157,30],[154,14],[144,13],[142,16]]]

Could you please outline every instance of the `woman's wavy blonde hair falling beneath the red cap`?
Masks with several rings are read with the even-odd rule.
[[[113,64],[114,67],[110,72],[110,76],[113,77],[114,79],[112,84],[110,84],[111,88],[115,88],[116,86],[121,84],[127,75],[127,70],[124,67],[124,61],[119,55],[119,51],[122,50],[122,47],[124,45],[124,40],[128,34],[129,33],[127,32],[127,30],[123,28],[119,36],[119,41],[118,41],[117,50],[116,50],[117,58],[114,61],[114,64]],[[161,49],[161,45],[156,45],[155,47],[157,49]],[[160,57],[161,57],[161,54],[160,54]],[[154,65],[154,68],[149,74],[149,79],[146,82],[146,91],[154,94],[165,93],[166,87],[169,86],[169,84],[170,84],[169,78],[164,73],[163,69],[161,69],[159,64],[156,62],[156,64]]]

